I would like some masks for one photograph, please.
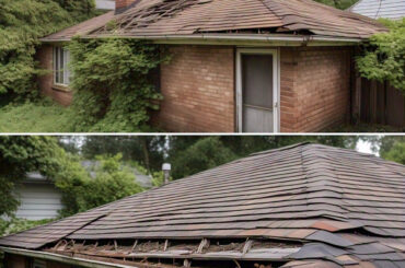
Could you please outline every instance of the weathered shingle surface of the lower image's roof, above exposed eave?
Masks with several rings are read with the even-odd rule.
[[[286,267],[404,267],[405,166],[297,144],[1,238],[0,245],[36,249],[61,238],[266,238],[302,243],[261,256],[293,260]],[[232,256],[251,256],[239,254]]]

